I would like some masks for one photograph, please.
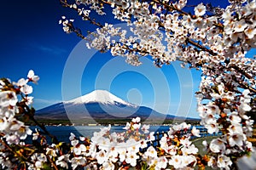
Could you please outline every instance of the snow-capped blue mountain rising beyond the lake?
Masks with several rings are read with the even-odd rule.
[[[95,90],[76,99],[50,105],[36,112],[39,118],[82,120],[90,118],[124,119],[135,116],[141,118],[174,118],[166,116],[146,106],[131,104],[106,90]]]

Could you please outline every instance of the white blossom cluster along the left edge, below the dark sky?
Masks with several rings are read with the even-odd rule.
[[[24,123],[28,116],[33,114],[28,105],[32,104],[32,86],[28,85],[29,82],[37,83],[38,76],[34,75],[34,71],[29,71],[26,79],[21,78],[18,82],[11,82],[9,79],[0,79],[0,160],[2,167],[14,167],[13,161],[17,161],[12,157],[12,152],[9,150],[13,144],[21,144],[27,135],[32,134]],[[20,95],[20,98],[18,98]],[[19,101],[20,99],[20,101]],[[9,150],[9,151],[7,151]],[[18,150],[18,149],[17,149]],[[16,154],[20,154],[18,150]]]

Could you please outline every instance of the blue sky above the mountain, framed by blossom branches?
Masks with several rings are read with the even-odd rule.
[[[177,63],[157,69],[147,59],[144,65],[135,68],[127,65],[125,59],[113,58],[108,53],[90,54],[84,46],[84,49],[79,47],[79,37],[62,31],[58,24],[61,15],[75,18],[82,29],[94,29],[79,20],[73,11],[62,8],[58,0],[1,2],[0,77],[9,77],[15,82],[26,77],[30,69],[34,70],[40,77],[32,94],[36,109],[101,88],[156,111],[197,117],[193,93],[201,79],[199,72],[192,71],[193,77],[190,77],[191,72],[181,70]],[[111,16],[97,20],[109,21]],[[63,78],[65,83],[70,83],[64,88]],[[184,109],[189,108],[190,103],[191,109]]]

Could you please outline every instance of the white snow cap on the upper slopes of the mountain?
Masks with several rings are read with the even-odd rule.
[[[107,90],[95,90],[93,92],[90,92],[90,94],[85,94],[84,96],[69,100],[65,103],[73,103],[73,104],[100,103],[103,105],[121,104],[121,105],[136,106],[109,93]]]

